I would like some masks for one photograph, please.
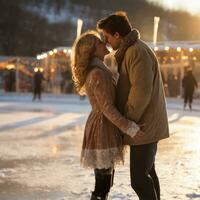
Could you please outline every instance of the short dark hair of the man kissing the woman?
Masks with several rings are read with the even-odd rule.
[[[116,12],[97,22],[97,29],[105,30],[111,35],[118,32],[122,37],[127,35],[131,31],[131,28],[126,12],[122,11]]]

